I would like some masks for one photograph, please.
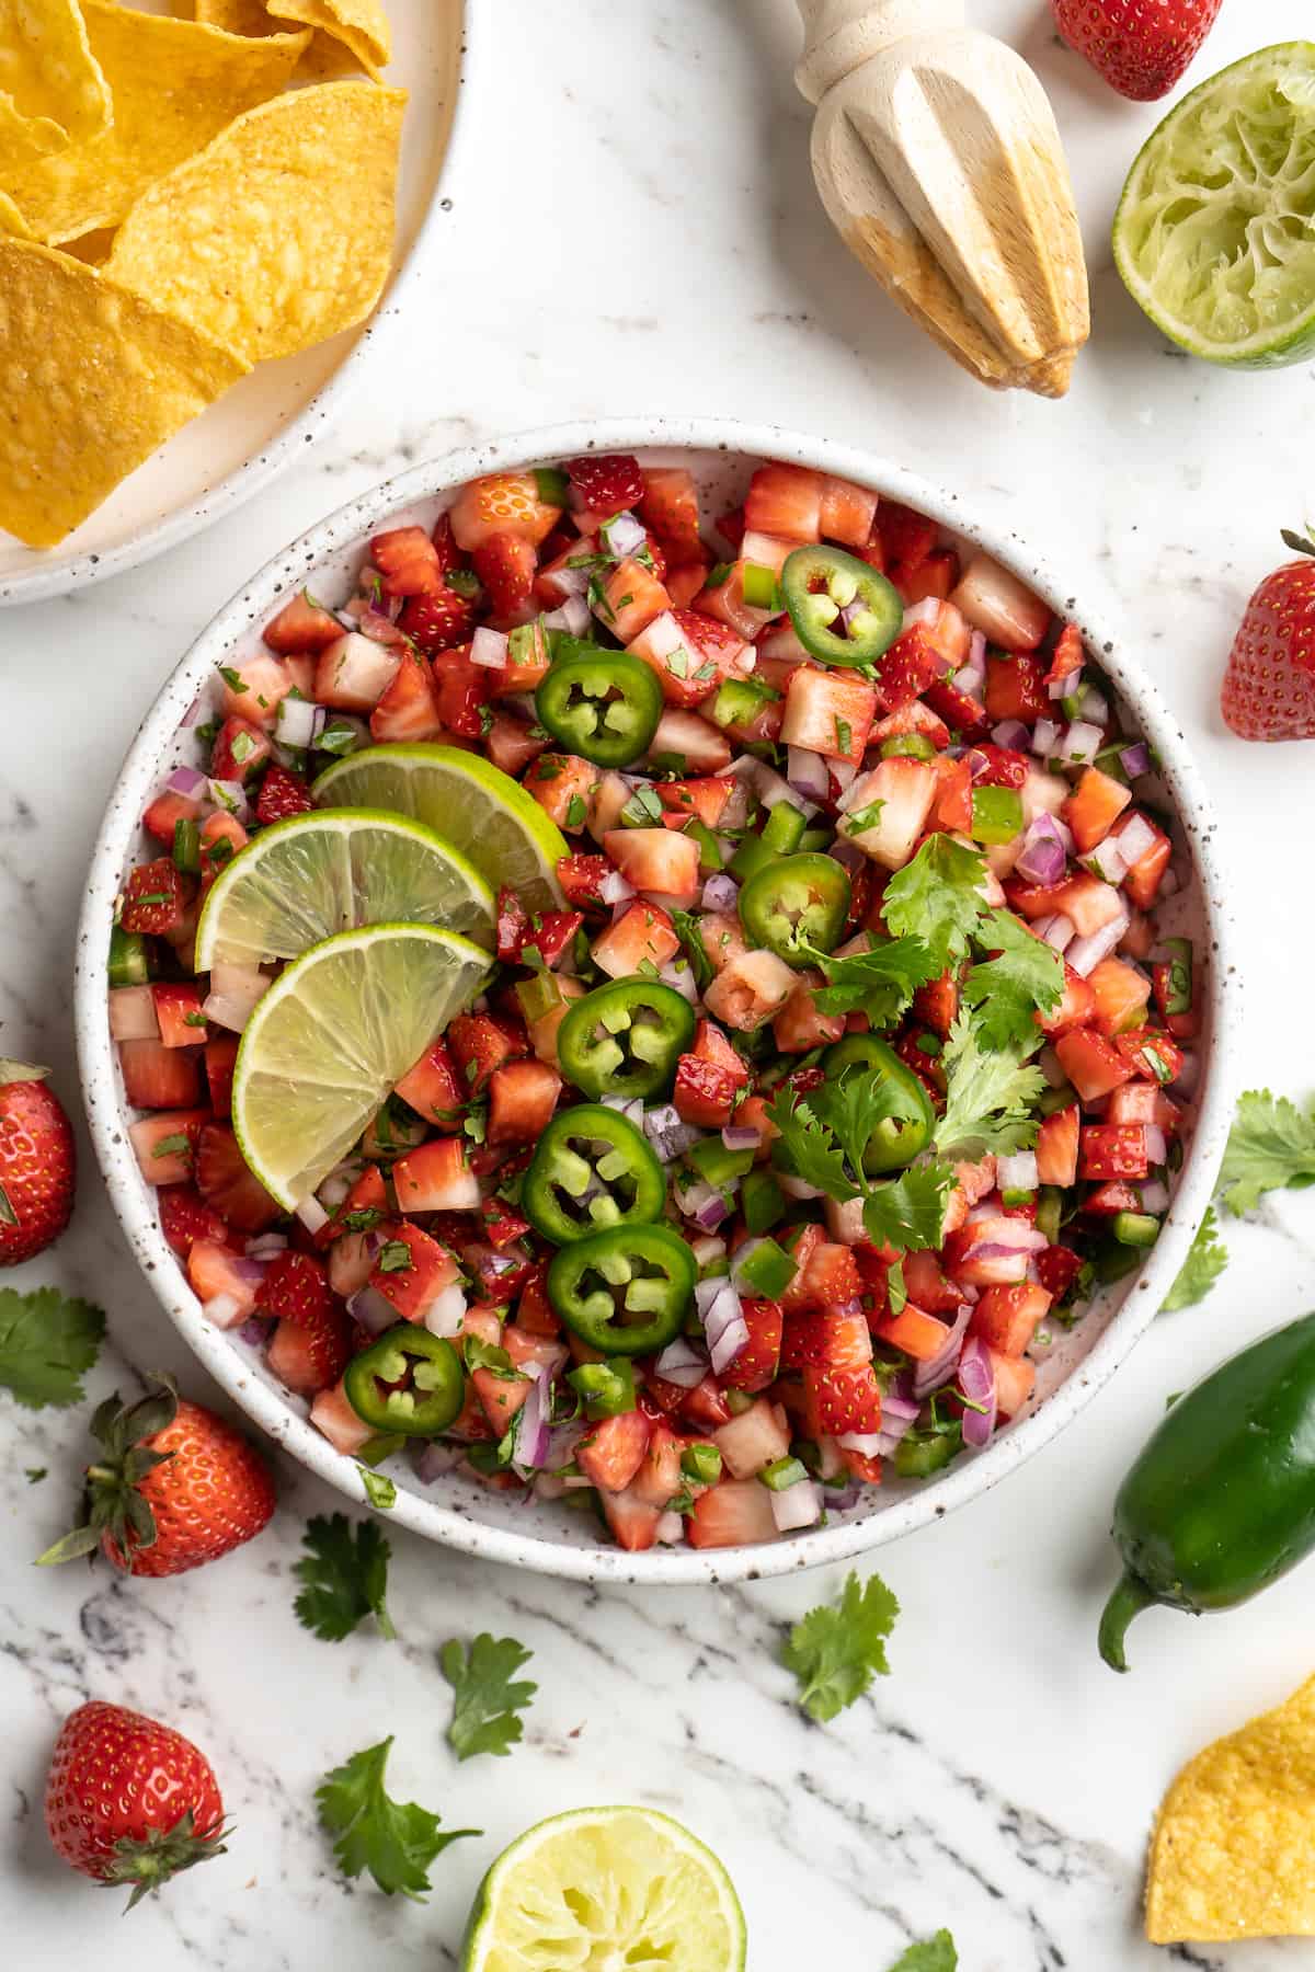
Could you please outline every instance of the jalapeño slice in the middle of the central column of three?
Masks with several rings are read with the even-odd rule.
[[[643,1130],[619,1110],[582,1102],[558,1110],[540,1136],[520,1203],[536,1232],[566,1246],[660,1219],[666,1173]]]

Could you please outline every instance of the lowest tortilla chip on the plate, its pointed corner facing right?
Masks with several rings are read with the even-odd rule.
[[[0,235],[0,528],[53,548],[242,373],[81,260]]]

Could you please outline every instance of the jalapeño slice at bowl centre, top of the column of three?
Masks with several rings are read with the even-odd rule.
[[[588,1096],[657,1096],[694,1039],[694,1008],[657,980],[611,980],[576,1000],[558,1027],[562,1073]]]

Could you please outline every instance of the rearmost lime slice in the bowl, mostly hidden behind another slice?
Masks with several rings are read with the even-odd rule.
[[[570,848],[519,781],[450,745],[373,745],[319,775],[315,801],[335,809],[414,814],[455,844],[495,889],[503,883],[526,911],[556,911],[556,866]]]

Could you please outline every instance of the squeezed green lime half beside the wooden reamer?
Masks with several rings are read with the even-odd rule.
[[[1195,357],[1315,351],[1315,41],[1262,47],[1169,110],[1128,176],[1114,258]]]

